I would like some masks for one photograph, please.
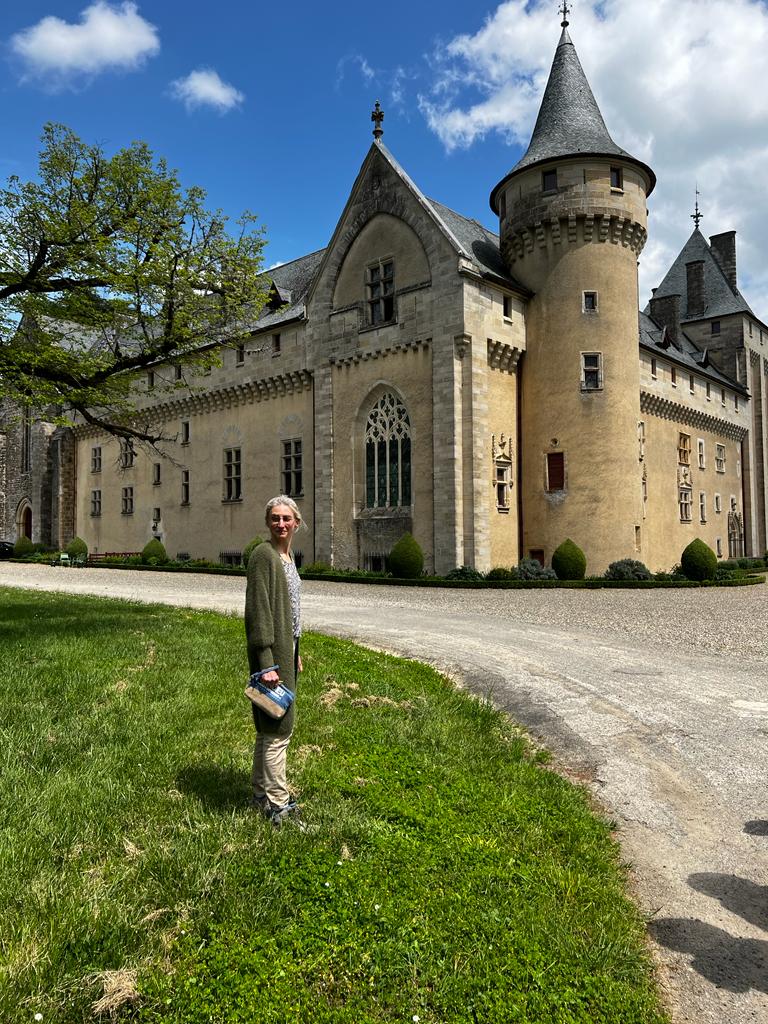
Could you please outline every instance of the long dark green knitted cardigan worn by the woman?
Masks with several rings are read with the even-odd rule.
[[[291,597],[281,557],[268,542],[254,548],[248,561],[246,640],[251,672],[278,665],[281,681],[295,690]],[[288,736],[293,730],[294,706],[281,719],[254,706],[253,718],[259,732]]]

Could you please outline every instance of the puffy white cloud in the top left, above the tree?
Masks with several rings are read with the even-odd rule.
[[[10,46],[24,60],[27,77],[63,84],[77,76],[138,68],[160,51],[160,40],[134,3],[112,6],[96,0],[77,24],[48,15],[12,36]]]

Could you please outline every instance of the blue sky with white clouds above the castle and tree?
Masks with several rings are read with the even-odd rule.
[[[270,264],[327,244],[380,99],[384,141],[420,187],[494,226],[487,197],[527,142],[557,6],[6,4],[0,175],[34,175],[46,121],[108,151],[142,139],[211,206],[253,210]],[[698,183],[702,230],[739,232],[744,291],[767,319],[765,4],[577,0],[570,22],[614,140],[658,175],[641,299],[690,233]]]

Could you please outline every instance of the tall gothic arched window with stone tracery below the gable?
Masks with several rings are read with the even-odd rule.
[[[366,507],[411,504],[411,422],[399,398],[387,391],[366,423]]]

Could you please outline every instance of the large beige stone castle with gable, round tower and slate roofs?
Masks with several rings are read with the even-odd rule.
[[[160,537],[239,561],[276,493],[306,564],[378,568],[411,531],[430,571],[652,569],[694,538],[766,549],[768,327],[735,232],[695,228],[638,312],[653,171],[611,139],[563,23],[527,152],[493,188],[499,233],[428,199],[374,142],[326,249],[267,272],[245,344],[136,403],[164,458],[87,425],[0,433],[0,536],[92,552]],[[169,393],[164,382],[181,381]]]

